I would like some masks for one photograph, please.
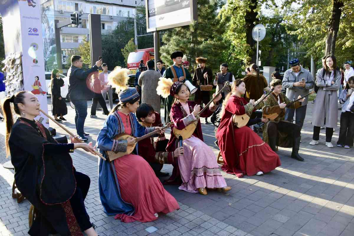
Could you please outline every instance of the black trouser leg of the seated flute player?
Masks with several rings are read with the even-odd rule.
[[[81,231],[84,231],[92,227],[90,217],[86,212],[84,202],[87,196],[87,192],[89,192],[91,180],[90,177],[88,177],[86,174],[82,174],[77,171],[74,171],[74,175],[76,179],[76,191],[72,198],[70,198],[70,205],[73,209],[73,213],[75,215],[76,221],[78,221]]]

